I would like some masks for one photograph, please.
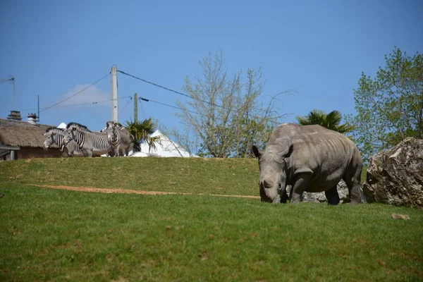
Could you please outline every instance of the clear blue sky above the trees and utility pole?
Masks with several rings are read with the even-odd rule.
[[[3,1],[0,6],[0,118],[11,109],[51,106],[118,70],[181,91],[186,75],[201,75],[208,51],[223,51],[228,71],[262,67],[264,95],[283,96],[283,113],[314,108],[353,114],[353,89],[362,71],[374,76],[394,46],[423,51],[423,1]],[[111,78],[40,122],[77,121],[99,130],[111,119]],[[176,105],[180,97],[118,74],[118,96]],[[184,101],[183,99],[181,99]],[[133,102],[119,100],[119,121],[133,117]],[[125,104],[127,104],[125,106]],[[125,108],[124,108],[125,106]],[[34,109],[34,110],[26,110]],[[139,118],[152,116],[182,129],[176,109],[143,102]]]

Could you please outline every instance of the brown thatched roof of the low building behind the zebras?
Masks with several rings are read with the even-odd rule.
[[[0,145],[13,147],[42,147],[43,134],[51,125],[33,125],[25,121],[0,118]],[[51,146],[57,148],[56,145]]]

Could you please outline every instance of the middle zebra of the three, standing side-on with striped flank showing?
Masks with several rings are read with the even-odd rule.
[[[85,157],[92,154],[106,154],[111,152],[111,146],[106,134],[87,131],[85,125],[69,123],[64,130],[66,141],[75,140]]]

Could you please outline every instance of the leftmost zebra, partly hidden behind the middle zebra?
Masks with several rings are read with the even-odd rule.
[[[63,157],[73,157],[73,155],[82,155],[81,150],[78,147],[78,144],[74,140],[65,144],[63,129],[61,128],[47,128],[46,132],[43,134],[45,136],[44,140],[44,150],[49,149],[52,144],[59,146],[59,150]]]

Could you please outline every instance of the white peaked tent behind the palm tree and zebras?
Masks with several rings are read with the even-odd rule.
[[[180,147],[180,145],[173,142],[169,137],[156,130],[151,137],[160,136],[159,141],[156,143],[156,149],[152,149],[149,152],[149,147],[147,142],[141,143],[141,152],[135,152],[130,155],[130,157],[198,157],[195,154],[190,154],[185,149]]]

